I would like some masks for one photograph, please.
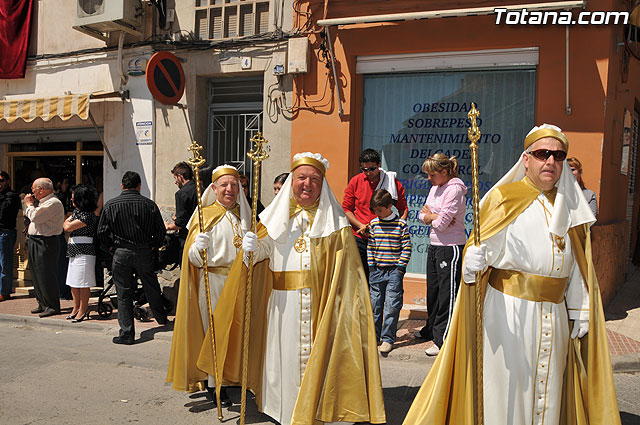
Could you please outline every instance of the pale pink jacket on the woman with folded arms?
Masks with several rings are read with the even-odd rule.
[[[425,205],[438,218],[431,223],[431,244],[438,246],[463,245],[467,241],[464,231],[465,198],[467,187],[457,177],[442,186],[432,186]],[[455,218],[455,224],[451,222]]]

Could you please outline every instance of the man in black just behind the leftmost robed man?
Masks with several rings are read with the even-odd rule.
[[[182,249],[187,240],[189,229],[187,224],[198,206],[198,194],[196,183],[193,181],[193,170],[186,162],[178,162],[171,170],[173,179],[179,190],[176,192],[176,214],[173,223],[166,223],[167,230],[177,230],[180,238],[180,258]]]

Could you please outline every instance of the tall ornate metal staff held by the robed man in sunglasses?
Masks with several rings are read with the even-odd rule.
[[[475,246],[480,245],[480,193],[478,182],[478,139],[480,139],[480,129],[476,123],[476,118],[480,111],[476,109],[476,104],[471,103],[471,110],[467,117],[471,120],[471,127],[467,130],[467,137],[471,141],[471,180],[473,184],[473,242]],[[484,423],[484,391],[482,379],[482,272],[476,272],[476,416],[477,424]]]

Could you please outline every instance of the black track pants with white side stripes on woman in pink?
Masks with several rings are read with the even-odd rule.
[[[427,250],[427,326],[420,332],[442,347],[460,287],[464,245],[436,246]]]

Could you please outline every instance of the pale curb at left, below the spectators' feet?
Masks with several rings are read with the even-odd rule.
[[[85,332],[94,332],[101,333],[108,336],[118,336],[120,327],[117,324],[108,324],[108,323],[89,323],[89,322],[80,322],[80,323],[70,323],[66,320],[59,319],[51,319],[48,317],[39,318],[39,317],[29,317],[29,316],[18,316],[15,314],[4,314],[0,313],[0,323],[12,323],[14,325],[22,325],[22,326],[33,326],[33,327],[45,327],[54,330],[60,331],[85,331]],[[158,326],[160,328],[160,326]],[[145,331],[151,331],[152,337],[150,339],[144,338],[144,342],[147,340],[162,340],[169,341],[173,337],[173,331],[163,331],[163,332],[154,332],[157,328],[147,328],[147,329],[138,329],[136,331],[137,339],[141,339],[140,334]]]

